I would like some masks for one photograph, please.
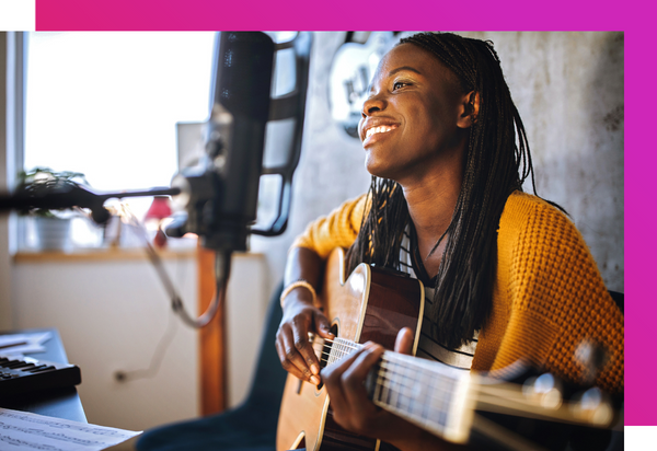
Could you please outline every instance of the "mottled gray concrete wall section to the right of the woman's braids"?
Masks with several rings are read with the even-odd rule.
[[[470,35],[495,43],[539,195],[566,209],[607,287],[624,291],[623,33]]]

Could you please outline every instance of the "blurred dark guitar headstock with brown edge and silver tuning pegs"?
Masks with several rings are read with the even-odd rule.
[[[623,425],[622,394],[612,396],[588,380],[567,382],[521,361],[511,367],[503,379],[482,377],[471,442],[491,450],[527,449],[489,443],[502,437],[537,449],[608,449],[612,430]]]

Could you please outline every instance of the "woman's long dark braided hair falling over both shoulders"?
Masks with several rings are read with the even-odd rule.
[[[461,192],[447,231],[436,276],[436,291],[427,312],[431,335],[458,348],[482,327],[493,301],[497,263],[497,229],[508,196],[531,175],[533,167],[527,135],[504,80],[491,42],[451,33],[419,33],[400,44],[413,44],[431,55],[458,79],[463,94],[474,91],[480,108],[470,127]],[[518,138],[516,140],[516,137]],[[372,176],[371,208],[348,253],[353,270],[359,263],[399,268],[403,231],[410,223],[401,186]],[[431,252],[434,252],[431,251]]]

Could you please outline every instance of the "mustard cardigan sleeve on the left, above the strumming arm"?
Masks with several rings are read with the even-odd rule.
[[[292,247],[307,247],[326,258],[335,247],[351,246],[358,236],[367,203],[367,195],[362,195],[314,220],[297,236]]]

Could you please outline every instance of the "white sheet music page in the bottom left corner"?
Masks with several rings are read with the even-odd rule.
[[[0,407],[3,451],[96,451],[139,433]]]

